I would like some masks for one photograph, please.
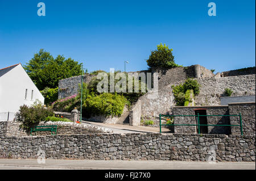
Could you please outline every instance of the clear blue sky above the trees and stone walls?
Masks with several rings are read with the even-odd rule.
[[[38,16],[39,2],[46,16]],[[217,16],[208,16],[208,3]],[[40,48],[83,62],[89,71],[147,69],[156,45],[176,64],[226,71],[255,66],[255,1],[3,1],[0,68],[28,62]]]

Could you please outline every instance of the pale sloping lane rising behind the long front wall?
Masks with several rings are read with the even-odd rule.
[[[81,124],[97,125],[113,130],[113,133],[159,133],[158,127],[130,126],[129,124],[106,124],[82,120]],[[162,128],[163,133],[170,132],[168,128]]]

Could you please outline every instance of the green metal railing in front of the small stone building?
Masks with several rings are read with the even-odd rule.
[[[179,117],[179,116],[193,116],[197,117],[197,124],[161,124],[161,117]],[[200,124],[200,116],[239,116],[240,117],[240,124],[238,125],[232,125],[232,124]],[[221,126],[221,127],[240,127],[241,135],[243,135],[243,127],[242,127],[242,115],[239,113],[239,115],[161,115],[159,114],[159,127],[160,127],[160,133],[162,133],[162,125],[170,125],[170,126],[196,126],[198,128],[198,133],[200,133],[200,126],[209,126],[209,127],[215,127],[215,126]]]

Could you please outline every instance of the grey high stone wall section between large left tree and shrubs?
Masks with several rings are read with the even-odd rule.
[[[89,83],[95,75],[85,74],[82,79],[83,82]],[[62,79],[59,81],[58,99],[63,99],[79,93],[79,84],[81,84],[81,75]]]

